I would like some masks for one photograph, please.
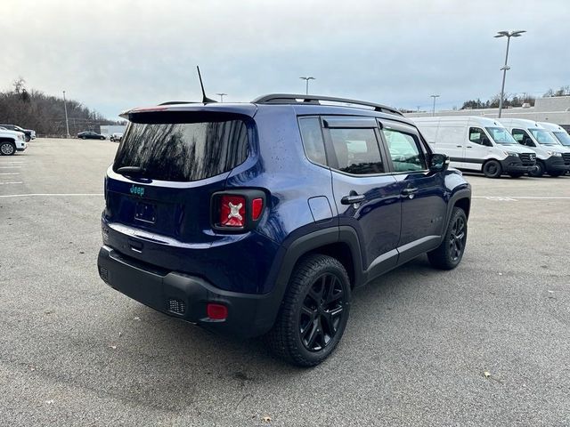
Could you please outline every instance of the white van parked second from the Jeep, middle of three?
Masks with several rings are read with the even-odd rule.
[[[560,176],[570,170],[570,149],[567,149],[552,136],[542,125],[533,120],[524,118],[501,118],[504,125],[513,137],[526,147],[536,152],[536,170],[533,176],[542,176],[548,173],[550,176]]]

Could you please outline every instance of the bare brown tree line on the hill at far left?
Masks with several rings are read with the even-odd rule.
[[[25,84],[20,77],[12,83],[12,90],[0,92],[0,123],[34,129],[38,135],[64,136],[67,130],[63,97],[28,90]],[[71,135],[86,130],[99,132],[101,125],[126,124],[109,120],[79,101],[66,100],[66,106]]]

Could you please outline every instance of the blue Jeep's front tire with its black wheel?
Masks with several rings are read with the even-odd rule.
[[[467,243],[467,216],[460,207],[453,207],[452,217],[447,225],[444,241],[440,246],[428,252],[428,260],[440,270],[453,270],[457,267]]]

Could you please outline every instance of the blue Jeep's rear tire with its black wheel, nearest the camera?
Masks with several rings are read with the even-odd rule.
[[[343,265],[327,255],[308,255],[297,262],[265,341],[278,358],[314,367],[335,350],[349,310],[350,280]]]

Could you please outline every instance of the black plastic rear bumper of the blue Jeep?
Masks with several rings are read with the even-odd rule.
[[[169,316],[203,326],[213,332],[252,337],[273,326],[282,293],[242,294],[224,291],[206,280],[166,271],[135,261],[110,246],[102,246],[97,260],[99,275],[109,286]],[[228,308],[225,320],[208,318],[207,304]]]

